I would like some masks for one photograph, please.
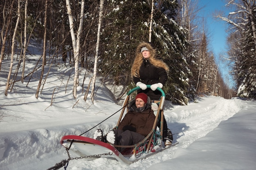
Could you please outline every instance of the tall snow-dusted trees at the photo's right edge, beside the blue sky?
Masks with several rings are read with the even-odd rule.
[[[237,95],[256,98],[256,3],[255,0],[230,0],[234,7],[229,17],[219,16],[230,24],[230,60],[234,61]]]

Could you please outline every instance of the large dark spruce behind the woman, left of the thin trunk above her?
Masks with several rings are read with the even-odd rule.
[[[106,8],[99,69],[115,85],[129,85],[135,49],[141,41],[148,41],[149,1],[111,1]]]

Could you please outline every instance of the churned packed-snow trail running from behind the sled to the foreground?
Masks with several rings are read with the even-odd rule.
[[[205,107],[206,105],[207,107]],[[215,129],[222,120],[232,117],[240,109],[241,107],[236,103],[236,100],[209,97],[200,103],[193,103],[185,107],[177,106],[173,110],[165,110],[164,115],[166,116],[168,127],[175,134],[173,142],[179,142],[179,144],[149,158],[139,160],[125,167],[125,169],[147,169],[155,163],[171,159],[176,149],[186,148],[196,139],[205,136]],[[99,158],[93,161],[83,161],[80,159],[70,161],[69,164],[69,168],[77,168],[78,170],[122,170],[123,166],[116,160],[106,158]]]

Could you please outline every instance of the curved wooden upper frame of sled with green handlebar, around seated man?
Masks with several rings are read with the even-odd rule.
[[[150,86],[151,86],[151,85],[147,85],[147,88],[150,88]],[[137,90],[139,90],[139,89],[141,89],[141,88],[140,88],[140,87],[135,87],[135,88],[131,89],[131,90],[127,93],[127,95],[126,95],[126,97],[125,97],[125,99],[124,99],[124,103],[123,103],[123,105],[122,105],[123,109],[122,109],[122,111],[121,111],[119,120],[118,120],[118,122],[117,122],[117,126],[116,126],[113,130],[118,129],[118,126],[119,126],[119,124],[120,124],[120,122],[121,122],[121,119],[122,119],[122,117],[123,117],[123,115],[124,115],[125,109],[127,109],[127,112],[128,112],[128,104],[129,104],[129,102],[130,102],[130,95],[131,95],[133,92],[135,92],[135,91],[137,91]],[[151,129],[150,133],[144,138],[144,140],[142,140],[141,142],[139,142],[139,143],[137,143],[137,144],[135,144],[135,145],[130,145],[130,146],[113,145],[114,147],[116,147],[116,148],[117,148],[117,147],[120,147],[120,148],[132,148],[132,147],[134,147],[134,149],[133,149],[133,155],[136,155],[136,150],[137,150],[137,148],[139,148],[139,146],[141,146],[141,145],[147,143],[147,141],[148,141],[148,145],[147,145],[147,149],[146,149],[146,153],[148,153],[148,152],[150,151],[150,146],[151,146],[151,143],[152,143],[152,141],[153,141],[153,138],[154,138],[154,135],[155,135],[155,131],[156,131],[156,129],[157,129],[157,123],[158,123],[160,114],[161,114],[161,120],[160,120],[160,128],[159,128],[159,129],[160,129],[160,136],[161,136],[161,140],[162,140],[162,137],[163,137],[163,122],[164,122],[164,110],[163,110],[163,107],[164,107],[165,94],[164,94],[164,91],[163,91],[161,88],[159,88],[159,87],[157,87],[156,90],[158,90],[159,92],[161,92],[162,95],[161,95],[160,100],[159,100],[159,107],[158,107],[158,109],[157,109],[157,114],[156,114],[156,116],[155,116],[155,117],[156,117],[156,118],[155,118],[155,122],[154,122],[154,124],[153,124],[153,128]]]

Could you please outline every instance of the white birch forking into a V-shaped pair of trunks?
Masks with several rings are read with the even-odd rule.
[[[79,86],[79,50],[80,50],[80,39],[81,39],[81,32],[83,26],[83,11],[84,11],[84,0],[81,1],[81,12],[80,12],[80,23],[79,28],[77,30],[76,36],[74,33],[74,23],[72,18],[72,11],[70,7],[70,1],[66,0],[67,6],[67,15],[68,20],[70,23],[70,34],[72,38],[72,46],[73,46],[73,53],[74,53],[74,83],[73,83],[73,96],[76,98],[77,86]]]

